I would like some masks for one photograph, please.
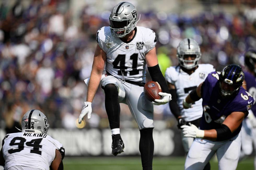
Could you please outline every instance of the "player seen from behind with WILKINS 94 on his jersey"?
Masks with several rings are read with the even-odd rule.
[[[39,110],[29,110],[21,120],[22,132],[7,134],[0,151],[0,165],[4,169],[61,170],[65,149],[47,135],[49,124]]]

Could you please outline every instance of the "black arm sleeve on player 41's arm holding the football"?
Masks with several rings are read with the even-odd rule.
[[[153,81],[157,81],[162,88],[162,92],[169,93],[165,78],[159,68],[159,65],[148,67],[148,72]]]

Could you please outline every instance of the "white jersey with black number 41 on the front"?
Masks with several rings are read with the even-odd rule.
[[[113,37],[109,27],[97,32],[97,42],[107,54],[105,69],[114,77],[136,82],[146,81],[145,55],[155,47],[156,35],[149,29],[136,26],[135,35],[129,42]]]

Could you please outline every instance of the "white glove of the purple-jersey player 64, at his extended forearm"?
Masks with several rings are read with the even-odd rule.
[[[205,136],[205,131],[198,129],[195,125],[191,124],[188,125],[182,125],[182,133],[184,137],[198,137],[203,138]]]

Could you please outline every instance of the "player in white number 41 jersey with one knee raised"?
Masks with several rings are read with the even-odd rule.
[[[97,32],[97,47],[94,54],[85,106],[79,122],[88,114],[91,117],[91,102],[100,84],[105,93],[105,107],[112,132],[112,154],[123,152],[124,142],[120,136],[120,105],[125,103],[135,118],[139,130],[139,151],[143,169],[152,169],[154,153],[153,104],[165,104],[171,100],[164,76],[156,56],[156,35],[144,27],[136,27],[139,18],[131,3],[117,4],[110,16],[110,26]],[[102,78],[104,65],[107,76]],[[146,64],[153,81],[162,87],[162,99],[151,103],[144,96]]]

